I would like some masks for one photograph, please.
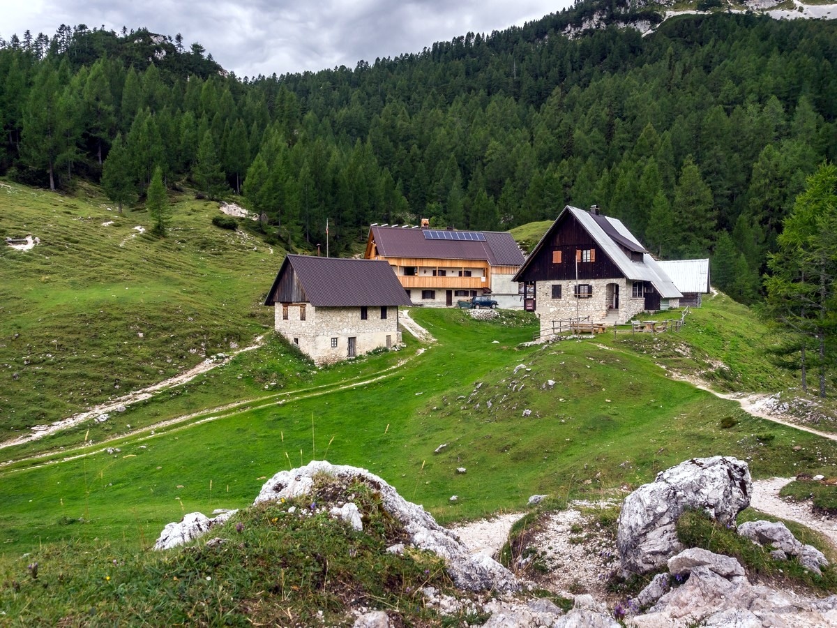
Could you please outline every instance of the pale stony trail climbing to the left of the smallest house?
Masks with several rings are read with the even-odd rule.
[[[18,436],[17,438],[5,440],[2,443],[0,443],[0,449],[4,449],[6,447],[13,447],[14,445],[23,445],[24,443],[28,443],[33,440],[42,439],[46,435],[54,434],[55,432],[59,432],[61,430],[67,430],[70,427],[74,427],[74,425],[79,425],[80,423],[84,423],[86,420],[98,417],[102,414],[120,412],[121,409],[124,409],[128,405],[136,404],[137,402],[145,401],[146,399],[151,399],[151,397],[153,397],[154,394],[159,393],[161,390],[170,389],[175,386],[179,386],[182,383],[187,383],[193,378],[198,377],[198,375],[200,375],[201,373],[207,373],[208,371],[211,371],[213,368],[228,363],[239,353],[244,353],[245,351],[252,351],[253,349],[261,347],[263,344],[264,336],[259,336],[255,339],[253,344],[249,345],[249,347],[244,347],[243,349],[239,349],[231,353],[224,353],[224,357],[221,359],[207,358],[203,360],[202,363],[197,364],[193,368],[190,368],[187,371],[184,371],[183,373],[174,376],[173,378],[168,378],[163,380],[162,382],[152,384],[147,388],[135,390],[131,393],[124,394],[121,397],[106,402],[105,404],[96,405],[93,408],[87,410],[86,412],[74,414],[73,416],[67,419],[55,421],[50,425],[35,425],[32,428],[32,432],[30,434]]]

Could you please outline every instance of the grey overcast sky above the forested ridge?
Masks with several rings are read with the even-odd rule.
[[[239,77],[346,65],[420,52],[468,31],[490,33],[560,11],[572,0],[3,0],[0,36],[49,38],[62,24],[117,33],[146,27],[200,42]]]

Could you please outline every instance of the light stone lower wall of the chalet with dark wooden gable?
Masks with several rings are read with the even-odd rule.
[[[593,286],[593,296],[588,299],[577,299],[574,296],[575,281],[538,281],[537,282],[537,316],[541,319],[541,337],[552,335],[552,322],[568,318],[590,317],[592,322],[603,322],[608,318],[609,300],[608,284],[619,286],[619,311],[617,322],[628,322],[640,311],[644,310],[644,297],[630,296],[632,281],[613,279],[591,279],[579,281],[581,284]],[[552,298],[552,286],[560,284],[561,298]],[[578,309],[576,304],[578,303]]]

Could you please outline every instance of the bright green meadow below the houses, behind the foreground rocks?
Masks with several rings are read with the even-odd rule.
[[[712,313],[696,313],[696,329],[701,316]],[[404,352],[122,437],[111,443],[118,451],[76,434],[75,448],[3,467],[2,551],[73,539],[146,547],[184,512],[242,507],[266,477],[312,458],[366,467],[449,521],[519,509],[533,493],[611,494],[692,456],[739,456],[755,476],[773,476],[828,473],[837,455],[833,441],[670,378],[655,354],[673,353],[665,346],[684,342],[676,334],[523,347],[534,326],[522,313],[413,317],[438,339],[423,353],[410,341]],[[223,367],[218,386],[240,381],[257,354]]]

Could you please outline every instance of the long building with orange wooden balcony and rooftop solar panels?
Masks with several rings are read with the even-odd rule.
[[[521,307],[512,276],[524,258],[511,234],[373,225],[367,260],[387,260],[414,303],[454,306],[490,294],[501,307]]]

